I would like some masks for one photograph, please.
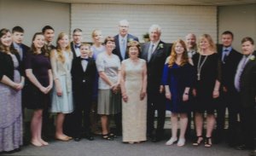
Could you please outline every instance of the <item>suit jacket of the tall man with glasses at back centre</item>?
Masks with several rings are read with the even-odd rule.
[[[116,46],[115,49],[113,49],[113,54],[118,55],[120,61],[123,61],[124,59],[121,55],[120,46],[119,46],[119,35],[116,35],[113,38],[114,38],[114,43]],[[131,34],[127,34],[126,42],[129,43],[129,41],[131,41],[131,40],[135,40],[135,41],[139,42],[137,37],[132,36]],[[125,52],[125,59],[127,59],[128,57],[129,57],[128,54]]]

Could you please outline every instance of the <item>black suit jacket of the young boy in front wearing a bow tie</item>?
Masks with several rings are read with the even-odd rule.
[[[73,59],[72,69],[73,97],[76,104],[84,100],[91,101],[93,86],[96,78],[96,63],[89,58],[85,71],[81,64],[81,57]]]

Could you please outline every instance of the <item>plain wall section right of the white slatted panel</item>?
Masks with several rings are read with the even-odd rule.
[[[218,23],[219,38],[224,31],[234,33],[235,49],[241,51],[241,39],[247,36],[256,43],[256,4],[219,7]]]

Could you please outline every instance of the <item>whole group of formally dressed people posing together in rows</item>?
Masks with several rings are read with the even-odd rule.
[[[61,32],[54,46],[55,31],[44,26],[28,48],[22,43],[20,26],[12,32],[1,29],[0,152],[20,149],[23,107],[33,110],[31,143],[36,147],[49,145],[42,138],[49,113],[56,113],[57,140],[79,142],[83,136],[93,140],[96,112],[102,139],[122,136],[123,142],[138,143],[164,139],[166,110],[172,112],[172,137],[166,145],[184,146],[190,122],[195,120],[193,145],[203,142],[211,147],[216,113],[214,140],[221,142],[225,137],[226,107],[230,146],[254,147],[256,52],[252,38],[242,38],[241,53],[232,48],[234,37],[229,31],[221,35],[218,48],[208,34],[201,35],[197,44],[195,34],[189,33],[184,41],[171,45],[160,40],[160,26],[152,25],[149,42],[141,47],[128,30],[129,22],[120,20],[119,34],[104,42],[102,32],[94,30],[90,45],[82,42],[83,32],[78,28],[73,30],[72,42]],[[111,116],[114,131],[109,126]],[[236,133],[239,124],[242,139]]]

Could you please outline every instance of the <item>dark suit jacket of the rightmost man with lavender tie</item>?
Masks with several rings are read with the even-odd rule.
[[[254,57],[254,58],[253,58]],[[256,97],[256,51],[241,72],[240,94],[242,107],[255,107]]]

